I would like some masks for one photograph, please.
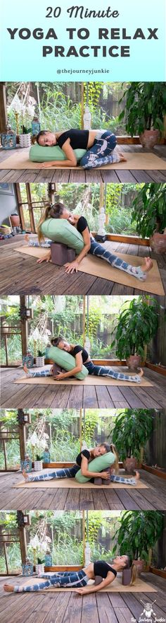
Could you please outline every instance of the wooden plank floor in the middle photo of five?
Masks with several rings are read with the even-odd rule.
[[[119,368],[122,371],[122,368]],[[118,370],[118,368],[116,368]],[[165,377],[145,368],[145,377],[153,387],[107,385],[15,385],[13,381],[23,376],[21,368],[1,368],[1,407],[6,409],[33,409],[51,407],[56,409],[118,409],[125,407],[165,408]]]

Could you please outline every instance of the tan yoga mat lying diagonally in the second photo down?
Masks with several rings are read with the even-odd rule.
[[[109,241],[104,243],[103,248],[105,250],[113,252],[111,248],[111,243]],[[33,257],[38,258],[42,258],[44,257],[44,255],[46,255],[46,249],[38,247],[25,246],[18,247],[13,250],[24,253],[25,255],[32,255]],[[133,266],[141,266],[141,264],[143,264],[143,257],[138,257],[136,255],[126,255],[125,253],[115,253],[115,255],[117,255],[117,257],[120,257],[121,260],[124,260],[124,262],[128,262],[128,264],[132,264]],[[91,274],[96,277],[101,277],[102,279],[115,281],[115,284],[122,284],[123,286],[136,288],[137,290],[158,294],[158,296],[165,295],[160,272],[158,269],[158,263],[156,262],[156,260],[153,260],[153,268],[150,272],[147,273],[146,281],[139,281],[139,279],[136,279],[134,276],[127,274],[123,270],[114,268],[113,266],[108,264],[108,262],[101,260],[100,257],[95,257],[90,253],[86,257],[84,257],[82,262],[79,264],[78,270],[80,272],[85,272],[89,275]]]

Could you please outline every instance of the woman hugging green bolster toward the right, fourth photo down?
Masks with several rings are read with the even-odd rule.
[[[106,454],[108,452],[112,452],[113,454],[113,460],[112,462],[110,462],[110,465],[115,468],[115,475],[111,474],[110,476],[110,472],[108,471],[102,472],[102,474],[101,472],[91,472],[91,466],[89,469],[89,464],[91,463],[91,461],[94,458],[102,456],[103,454]],[[111,443],[110,446],[108,443],[100,443],[100,446],[96,446],[96,448],[91,448],[91,450],[82,450],[77,455],[76,462],[73,467],[63,467],[63,469],[61,470],[54,470],[51,473],[47,472],[39,476],[33,476],[31,474],[28,474],[27,472],[25,472],[25,470],[23,470],[22,473],[26,482],[38,482],[39,480],[52,480],[56,478],[75,478],[75,474],[77,474],[80,468],[82,476],[85,476],[87,478],[90,477],[91,479],[102,477],[103,480],[110,479],[112,482],[125,482],[126,484],[136,484],[137,480],[139,480],[139,472],[136,472],[135,478],[123,478],[122,476],[117,476],[117,472],[119,471],[119,462],[117,450],[113,443]]]

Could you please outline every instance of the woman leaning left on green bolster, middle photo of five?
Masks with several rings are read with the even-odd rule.
[[[112,368],[108,366],[95,366],[89,357],[89,353],[84,347],[80,344],[70,344],[66,342],[65,338],[62,335],[58,337],[52,337],[51,339],[52,346],[56,348],[66,351],[70,353],[73,357],[75,357],[75,367],[72,368],[69,372],[58,372],[58,375],[54,376],[56,380],[65,380],[66,378],[70,378],[71,376],[75,376],[77,373],[82,372],[82,366],[84,365],[87,368],[90,375],[95,376],[109,376],[111,378],[116,378],[118,380],[129,380],[133,383],[140,383],[141,376],[143,376],[143,370],[141,369],[139,374],[130,375],[124,374],[123,372],[115,372]],[[51,376],[53,374],[53,368],[41,370],[39,372],[30,372],[28,370],[26,364],[23,366],[23,370],[28,377],[40,377],[40,376]]]

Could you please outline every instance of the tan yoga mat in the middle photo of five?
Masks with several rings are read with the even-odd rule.
[[[123,371],[123,370],[122,370]],[[141,383],[134,383],[129,380],[117,380],[116,378],[109,378],[108,376],[94,376],[90,375],[84,378],[84,380],[78,380],[77,378],[68,378],[68,380],[54,380],[51,376],[41,376],[27,378],[23,376],[14,381],[14,383],[23,383],[25,385],[112,385],[112,386],[120,386],[123,387],[136,387],[136,388],[146,388],[153,387],[153,383],[150,383],[149,380],[141,378]]]

